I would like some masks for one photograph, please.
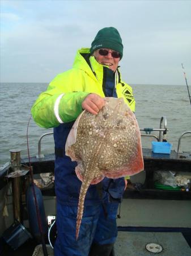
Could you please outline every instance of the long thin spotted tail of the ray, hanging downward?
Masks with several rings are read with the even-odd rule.
[[[80,188],[80,193],[79,193],[79,202],[78,202],[78,213],[77,213],[77,227],[76,227],[76,232],[75,232],[75,237],[78,239],[79,235],[79,229],[80,225],[82,222],[82,217],[83,217],[83,208],[84,208],[84,199],[86,196],[86,192],[88,187],[90,186],[91,181],[83,181],[81,188]]]

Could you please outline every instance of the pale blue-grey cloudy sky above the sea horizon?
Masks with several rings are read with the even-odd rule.
[[[191,81],[191,1],[3,1],[1,82],[50,82],[77,49],[116,27],[122,79],[131,84]]]

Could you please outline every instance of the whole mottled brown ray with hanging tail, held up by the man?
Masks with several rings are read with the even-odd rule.
[[[109,177],[117,179],[143,170],[141,134],[135,115],[123,98],[105,98],[97,115],[84,111],[74,123],[66,142],[66,155],[78,162],[82,181],[76,237],[83,217],[84,199],[90,184]]]

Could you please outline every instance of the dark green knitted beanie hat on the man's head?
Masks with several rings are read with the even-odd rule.
[[[91,55],[96,51],[96,49],[108,48],[113,51],[117,51],[121,55],[124,46],[122,45],[122,40],[119,32],[114,27],[104,27],[98,31],[94,41],[91,44],[90,53]]]

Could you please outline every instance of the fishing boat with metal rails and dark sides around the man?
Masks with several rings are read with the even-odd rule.
[[[130,177],[117,214],[118,238],[115,255],[141,256],[160,253],[165,256],[189,256],[191,255],[191,152],[181,151],[181,139],[185,135],[190,135],[191,131],[182,132],[177,150],[171,150],[171,144],[167,142],[168,129],[165,116],[160,118],[158,129],[140,130],[142,137],[152,137],[160,147],[157,148],[153,143],[152,148],[142,148],[145,169],[140,174]],[[158,132],[159,136],[152,134],[153,131]],[[35,184],[43,195],[49,224],[49,232],[45,237],[46,249],[49,255],[53,255],[50,230],[53,229],[56,218],[56,196],[53,185],[54,154],[43,155],[41,152],[42,139],[50,134],[52,133],[41,136],[38,154],[30,159],[21,161],[20,150],[10,150],[11,164],[6,164],[0,171],[0,210],[1,214],[3,210],[4,215],[9,213],[9,216],[1,220],[3,251],[0,255],[43,255],[43,247],[31,236],[28,224],[26,191],[30,165]],[[22,172],[22,176],[16,175],[19,171]],[[46,185],[44,181],[44,186],[41,182],[42,174],[48,174],[46,175],[48,181],[46,179]],[[165,181],[168,180],[168,184],[160,183],[159,176]],[[171,179],[167,179],[167,176]],[[175,186],[171,183],[177,176],[180,178],[179,185]],[[12,192],[9,192],[11,186]],[[9,196],[5,197],[7,191]],[[56,233],[54,234],[56,236]],[[22,237],[20,243],[18,240],[15,241],[18,235]]]

